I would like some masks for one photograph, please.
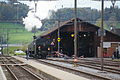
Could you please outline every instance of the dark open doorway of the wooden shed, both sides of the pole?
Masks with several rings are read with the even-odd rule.
[[[61,32],[61,49],[68,56],[74,55],[74,36],[72,32]],[[77,56],[94,57],[94,33],[79,32],[78,33],[78,54]]]

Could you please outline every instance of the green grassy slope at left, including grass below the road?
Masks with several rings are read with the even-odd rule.
[[[8,32],[8,33],[7,33]],[[36,36],[40,35],[42,31],[36,33]],[[0,23],[0,38],[3,37],[4,44],[7,39],[8,34],[8,44],[24,44],[24,46],[12,46],[8,48],[9,55],[14,55],[15,50],[25,51],[27,44],[33,41],[34,33],[29,32],[21,24],[15,23]],[[7,54],[7,48],[3,49],[3,54]],[[25,53],[16,53],[16,55],[25,55]]]

